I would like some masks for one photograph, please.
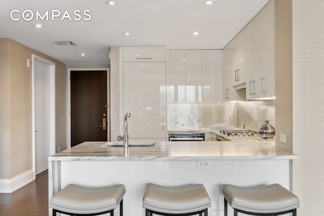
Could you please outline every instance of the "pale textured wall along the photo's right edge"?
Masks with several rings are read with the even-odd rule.
[[[293,1],[294,193],[297,215],[322,215],[324,194],[324,1]]]

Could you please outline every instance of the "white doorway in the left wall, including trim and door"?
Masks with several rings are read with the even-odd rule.
[[[32,55],[34,175],[48,169],[55,153],[55,63]]]

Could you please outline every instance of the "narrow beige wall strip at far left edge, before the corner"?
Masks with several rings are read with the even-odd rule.
[[[10,177],[9,41],[0,38],[0,179]]]

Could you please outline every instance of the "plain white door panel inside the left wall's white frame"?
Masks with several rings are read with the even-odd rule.
[[[50,66],[35,61],[35,172],[48,169],[50,156]]]

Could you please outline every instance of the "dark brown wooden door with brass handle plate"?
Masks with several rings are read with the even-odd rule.
[[[107,71],[71,71],[70,75],[71,147],[107,141]]]

